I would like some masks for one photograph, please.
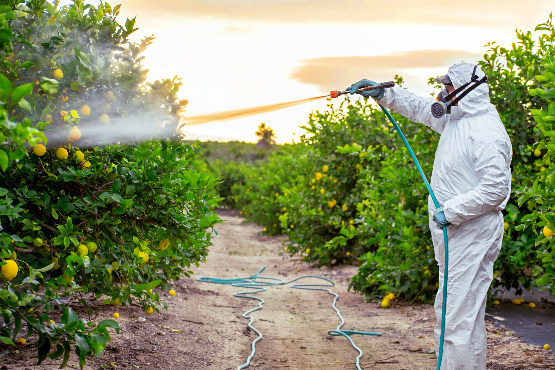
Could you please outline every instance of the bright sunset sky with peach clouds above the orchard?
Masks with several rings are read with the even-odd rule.
[[[69,3],[64,0],[62,3]],[[98,1],[90,1],[98,4]],[[115,1],[112,6],[115,6]],[[481,59],[487,42],[509,47],[515,29],[546,21],[547,0],[123,0],[133,40],[154,34],[148,79],[183,78],[187,116],[288,102],[395,74],[428,95],[428,77]],[[336,99],[339,100],[339,99]],[[294,140],[325,99],[248,118],[185,126],[190,139],[256,141],[257,126]],[[186,122],[186,121],[185,121]]]

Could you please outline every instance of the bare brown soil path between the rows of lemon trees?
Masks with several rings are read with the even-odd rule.
[[[426,353],[434,346],[436,320],[432,306],[392,301],[392,307],[382,308],[377,303],[367,303],[360,295],[347,291],[355,266],[312,267],[284,254],[281,237],[261,235],[261,227],[246,224],[231,211],[221,212],[220,217],[226,222],[218,227],[219,235],[214,238],[207,262],[191,268],[195,278],[176,281],[175,297],[160,292],[168,302],[167,312],[146,315],[140,307],[99,306],[98,301],[90,301],[93,322],[112,318],[117,311],[122,331],[116,334],[109,329],[112,340],[107,350],[98,358],[88,358],[85,369],[236,369],[249,356],[251,343],[257,337],[246,329],[248,320],[241,315],[258,302],[233,297],[233,292],[242,288],[199,282],[196,277],[247,277],[263,265],[267,267],[261,276],[288,281],[302,275],[319,275],[335,282],[332,290],[340,296],[337,307],[345,317],[343,328],[383,334],[352,336],[364,351],[362,368],[435,368],[435,353]],[[306,279],[309,282],[316,279]],[[266,303],[263,310],[252,314],[253,325],[264,338],[256,344],[251,368],[355,369],[357,351],[345,338],[327,334],[340,323],[329,293],[272,286],[257,296]],[[82,316],[85,307],[80,309]],[[137,317],[147,321],[137,322]],[[59,318],[54,320],[58,322]],[[492,322],[487,321],[486,327],[488,368],[555,368],[551,351],[519,342],[514,332],[505,332]],[[26,346],[18,346],[17,352],[8,347],[0,352],[0,369],[53,370],[62,362],[47,359],[36,366],[33,338]],[[543,356],[543,362],[538,355]],[[538,362],[532,362],[534,359]],[[68,367],[78,367],[77,364],[73,354]]]

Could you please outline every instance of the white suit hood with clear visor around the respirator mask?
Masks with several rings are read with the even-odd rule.
[[[434,79],[438,83],[448,83],[453,85],[453,88],[458,89],[462,85],[467,84],[472,79],[472,72],[476,67],[475,74],[478,76],[478,80],[481,80],[485,73],[482,72],[480,66],[473,63],[457,63],[451,65],[446,75]],[[457,94],[457,96],[464,93],[467,89],[472,88],[475,85],[471,83],[462,92]],[[487,83],[480,84],[477,88],[469,92],[465,97],[463,97],[458,102],[458,107],[451,107],[451,114],[457,114],[460,116],[472,116],[481,113],[485,113],[489,109],[490,104],[490,89]]]

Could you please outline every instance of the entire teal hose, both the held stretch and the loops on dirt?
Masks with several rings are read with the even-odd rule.
[[[337,92],[332,92],[332,98],[334,97],[334,93],[336,93],[335,97],[337,97]],[[422,171],[422,167],[420,166],[420,163],[418,163],[418,159],[416,159],[416,155],[412,151],[411,146],[408,145],[408,141],[405,138],[405,135],[402,133],[401,129],[397,125],[397,122],[395,121],[395,119],[393,119],[393,117],[391,116],[389,111],[387,111],[387,109],[385,109],[383,105],[381,105],[381,104],[378,104],[378,105],[380,105],[380,108],[387,115],[387,118],[391,121],[391,123],[393,124],[393,127],[395,127],[395,129],[397,130],[397,133],[401,137],[401,140],[403,141],[403,144],[405,144],[406,148],[408,149],[408,153],[411,155],[412,160],[416,164],[416,168],[418,169],[418,173],[420,173],[420,176],[422,177],[422,180],[424,181],[424,184],[426,185],[426,188],[430,192],[430,196],[432,197],[433,204],[436,206],[436,208],[439,207],[440,205],[437,202],[436,195],[433,194],[433,190],[430,186],[430,183],[428,183],[428,179],[426,179],[426,175],[424,175],[424,173]],[[443,357],[443,342],[444,342],[444,337],[445,337],[445,313],[446,313],[446,306],[447,306],[447,273],[448,273],[448,266],[449,266],[449,244],[448,244],[448,240],[447,240],[447,226],[443,226],[443,240],[444,240],[444,244],[445,244],[445,271],[443,273],[443,300],[442,300],[443,303],[442,303],[442,307],[441,307],[440,348],[439,348],[439,352],[437,354],[436,370],[440,370],[440,368],[441,368],[441,360],[442,360],[442,357]],[[360,368],[360,358],[362,357],[362,354],[363,354],[362,350],[359,347],[356,346],[356,344],[352,341],[352,339],[349,337],[349,335],[350,334],[362,334],[362,335],[378,335],[378,336],[381,336],[381,333],[360,332],[360,331],[353,331],[353,330],[341,330],[341,327],[345,325],[345,320],[344,320],[343,316],[341,316],[341,313],[339,312],[339,309],[337,309],[337,307],[335,306],[335,303],[337,302],[337,298],[339,298],[339,295],[337,295],[337,293],[331,291],[331,289],[328,288],[328,287],[335,286],[334,282],[332,282],[331,280],[328,280],[324,277],[314,276],[314,275],[301,276],[299,278],[296,278],[296,279],[288,281],[288,282],[285,282],[284,280],[277,279],[277,278],[259,276],[259,274],[262,271],[264,271],[265,268],[266,268],[266,266],[263,266],[262,268],[260,268],[260,270],[257,273],[255,273],[255,275],[250,276],[250,277],[245,277],[245,278],[220,279],[220,278],[204,277],[204,276],[198,278],[199,281],[204,281],[204,282],[228,284],[228,285],[231,285],[231,286],[243,287],[243,288],[255,288],[252,291],[233,293],[233,295],[235,297],[249,298],[249,299],[259,301],[257,307],[243,313],[243,318],[250,319],[248,327],[250,328],[250,330],[252,330],[256,334],[258,334],[258,338],[256,338],[253,341],[253,343],[251,344],[252,351],[251,351],[250,356],[246,359],[246,362],[243,365],[239,366],[237,369],[241,370],[241,369],[244,369],[245,367],[248,367],[250,365],[250,361],[254,357],[254,354],[256,353],[256,348],[255,348],[256,342],[258,342],[258,341],[260,341],[260,339],[262,339],[262,334],[255,327],[252,326],[252,324],[254,322],[254,317],[248,316],[248,315],[250,313],[254,312],[254,311],[260,310],[262,308],[262,305],[264,305],[265,301],[262,298],[249,296],[249,295],[265,291],[266,286],[287,285],[287,284],[290,284],[290,283],[295,282],[297,280],[300,280],[302,278],[312,277],[312,278],[319,278],[321,280],[325,280],[329,284],[327,284],[327,285],[323,285],[323,284],[300,284],[299,285],[299,284],[297,284],[297,285],[291,285],[291,287],[296,288],[296,289],[324,290],[324,291],[329,292],[331,295],[335,296],[334,302],[332,303],[332,308],[334,308],[334,310],[337,312],[337,316],[339,316],[339,318],[341,319],[341,323],[340,323],[339,326],[337,326],[337,329],[330,330],[327,333],[331,336],[340,336],[341,335],[341,336],[344,336],[345,338],[347,338],[347,340],[349,340],[349,342],[351,343],[351,346],[359,352],[359,356],[356,357],[356,368],[357,368],[357,370],[361,370],[361,368]]]

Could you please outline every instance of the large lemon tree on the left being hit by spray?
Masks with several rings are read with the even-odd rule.
[[[27,323],[38,364],[63,356],[65,366],[74,347],[83,367],[106,327],[119,330],[112,320],[90,330],[69,307],[49,323],[53,300],[86,305],[80,295],[93,293],[158,312],[152,289],[204,261],[206,230],[220,222],[218,181],[178,134],[180,79],[147,82],[140,54],[153,38],[129,43],[134,19],[119,24],[118,13],[80,0],[0,6],[0,340],[13,344]],[[86,130],[137,116],[152,121],[150,136]]]

